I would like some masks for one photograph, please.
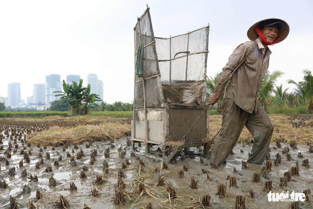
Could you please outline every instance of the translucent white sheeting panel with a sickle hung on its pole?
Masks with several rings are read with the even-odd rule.
[[[166,39],[155,38],[156,52],[162,55],[158,56],[162,62],[159,66],[162,84],[206,80],[208,34],[209,26]]]

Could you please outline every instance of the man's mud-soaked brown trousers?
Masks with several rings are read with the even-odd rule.
[[[247,163],[264,162],[274,126],[261,104],[257,101],[255,105],[253,113],[249,113],[237,106],[233,100],[224,98],[222,130],[212,148],[210,164],[219,165],[227,159],[244,126],[254,138]]]

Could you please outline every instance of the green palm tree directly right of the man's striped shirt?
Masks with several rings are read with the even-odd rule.
[[[266,110],[266,105],[269,97],[274,92],[275,82],[277,81],[277,78],[282,76],[283,74],[285,73],[279,70],[273,71],[271,74],[269,73],[269,71],[265,73],[258,92],[258,99],[262,103],[264,110]]]

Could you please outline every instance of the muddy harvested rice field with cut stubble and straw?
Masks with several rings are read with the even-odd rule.
[[[291,139],[272,118],[276,135],[262,165],[246,163],[253,146],[247,135],[215,168],[204,166],[210,140],[208,147],[183,150],[173,163],[163,161],[160,145],[149,154],[144,143],[133,149],[131,118],[0,118],[0,208],[313,208],[313,135],[306,133],[313,128],[295,134],[303,128],[292,126],[297,119],[280,117],[289,121],[284,126],[293,131]],[[210,118],[212,137],[220,121],[220,115]],[[115,132],[69,138],[70,130],[107,124],[118,124],[108,126]],[[59,131],[59,139],[48,137],[49,130]],[[300,133],[304,141],[296,138]],[[269,201],[270,190],[303,192],[306,200]]]

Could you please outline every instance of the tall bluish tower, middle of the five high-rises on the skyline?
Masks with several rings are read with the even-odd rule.
[[[62,91],[61,76],[58,74],[46,76],[46,104],[50,105],[50,102],[60,99],[60,97],[54,96],[59,94],[53,93],[54,91]]]

